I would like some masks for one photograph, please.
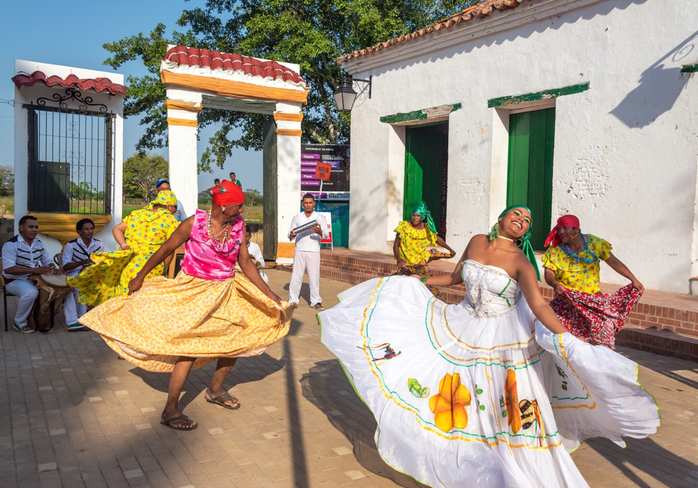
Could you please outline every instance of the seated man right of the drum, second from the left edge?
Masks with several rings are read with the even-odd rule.
[[[75,224],[75,230],[80,237],[67,243],[63,250],[63,269],[68,276],[79,275],[80,271],[92,264],[89,255],[104,250],[102,241],[92,238],[94,236],[94,222],[82,219]],[[86,328],[77,321],[87,313],[87,305],[80,305],[78,298],[80,298],[80,292],[73,289],[73,292],[66,296],[66,300],[63,302],[63,313],[66,316],[68,332]]]

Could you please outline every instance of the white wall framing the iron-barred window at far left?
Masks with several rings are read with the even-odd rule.
[[[107,78],[117,84],[124,84],[124,75],[119,75],[113,72],[85,70],[82,68],[73,68],[70,66],[59,66],[48,63],[37,63],[36,61],[23,61],[15,59],[15,75],[25,73],[31,75],[34,71],[41,71],[47,77],[59,76],[63,79],[68,75],[73,74],[80,79],[85,78]],[[22,107],[23,104],[30,104],[40,97],[51,99],[54,93],[63,95],[66,89],[61,86],[49,87],[38,82],[33,86],[15,86],[15,234],[18,232],[18,222],[22,215],[27,214],[27,196],[29,182],[29,153],[27,152],[27,109]],[[124,163],[124,97],[121,95],[111,95],[108,91],[96,93],[94,90],[80,90],[83,96],[90,96],[94,103],[102,103],[107,106],[107,112],[116,115],[114,119],[114,151],[112,152],[112,221],[107,224],[95,238],[102,241],[105,245],[105,250],[117,250],[117,245],[112,229],[115,225],[121,222],[121,188],[123,178],[123,163]],[[68,101],[68,108],[77,108],[78,102]],[[48,106],[56,104],[47,103]],[[96,109],[94,109],[97,111]],[[39,229],[40,231],[40,229]],[[75,234],[77,237],[77,233]],[[61,251],[61,243],[56,239],[45,234],[39,234],[38,238],[44,243],[47,251],[51,256]]]

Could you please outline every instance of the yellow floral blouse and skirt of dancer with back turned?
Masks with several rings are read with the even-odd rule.
[[[131,247],[126,251],[93,252],[94,262],[80,275],[68,277],[68,284],[80,291],[80,303],[100,305],[110,298],[128,293],[128,282],[133,280],[148,259],[167,241],[179,222],[164,208],[133,211],[124,219],[124,238]],[[148,277],[163,274],[165,265],[158,264]]]

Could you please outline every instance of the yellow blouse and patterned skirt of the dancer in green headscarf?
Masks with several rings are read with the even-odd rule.
[[[428,225],[424,225],[424,229],[415,229],[410,222],[403,220],[395,228],[395,233],[400,238],[400,257],[405,261],[405,265],[398,268],[398,275],[419,275],[429,277],[431,270],[429,269],[429,261],[442,258],[450,258],[448,252],[441,252],[430,245],[436,245],[436,237]],[[441,298],[441,293],[438,288],[426,285],[433,296]]]

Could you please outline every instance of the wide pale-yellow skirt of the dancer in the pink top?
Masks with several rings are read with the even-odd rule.
[[[171,372],[180,356],[193,368],[216,358],[257,356],[288,333],[295,305],[281,307],[242,273],[225,281],[180,272],[145,280],[80,317],[119,355],[153,372]]]

